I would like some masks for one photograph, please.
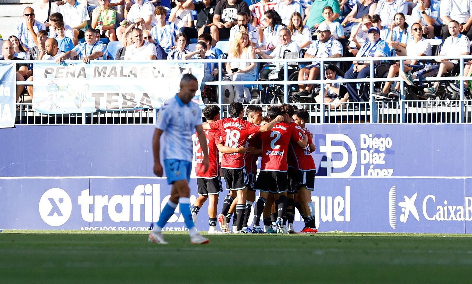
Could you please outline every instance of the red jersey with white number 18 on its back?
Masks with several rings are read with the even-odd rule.
[[[246,145],[251,134],[259,132],[261,128],[240,118],[223,118],[210,123],[211,129],[219,129],[225,146],[239,148]],[[244,154],[223,154],[221,167],[226,169],[241,169],[244,167]]]

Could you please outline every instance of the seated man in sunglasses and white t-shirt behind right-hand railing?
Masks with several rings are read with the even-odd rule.
[[[411,33],[413,35],[413,40],[408,42],[406,45],[406,56],[415,57],[415,56],[430,56],[431,55],[431,44],[423,37],[423,28],[420,23],[414,23],[411,26]],[[409,72],[413,69],[421,69],[423,64],[419,60],[404,60],[403,61],[403,71]],[[400,62],[396,62],[393,65],[390,65],[388,69],[388,78],[396,77],[400,71]],[[396,83],[395,89],[388,93],[390,86],[392,85],[391,81],[386,81],[382,90],[374,93],[375,95],[381,96],[398,96],[400,95],[400,82]]]

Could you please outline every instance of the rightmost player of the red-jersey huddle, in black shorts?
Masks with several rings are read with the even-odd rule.
[[[315,188],[316,173],[315,162],[312,156],[312,152],[316,149],[312,142],[313,135],[308,129],[305,129],[305,123],[309,118],[308,112],[302,109],[296,110],[293,115],[293,120],[297,126],[309,134],[308,146],[306,146],[305,149],[300,150],[295,146],[292,147],[296,157],[298,201],[300,202],[303,219],[305,220],[305,227],[302,231],[297,232],[301,234],[314,234],[318,232],[316,229],[315,214],[308,206],[308,204],[312,204],[311,194],[312,190]]]

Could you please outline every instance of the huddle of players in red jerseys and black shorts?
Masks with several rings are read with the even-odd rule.
[[[203,129],[208,144],[210,169],[203,171],[202,150],[197,144],[197,184],[199,197],[194,203],[192,217],[196,222],[200,207],[209,198],[209,233],[295,233],[295,208],[305,221],[299,233],[316,233],[315,216],[310,210],[311,191],[314,189],[315,164],[311,153],[315,150],[312,134],[304,128],[308,120],[306,110],[295,111],[282,104],[267,110],[231,103],[229,118],[220,119],[220,109],[208,105],[203,116],[208,120]],[[219,193],[223,191],[219,173],[219,152],[222,153],[221,171],[229,191],[217,216]],[[261,156],[261,172],[256,180],[256,161]],[[255,204],[256,191],[259,198]],[[254,222],[248,225],[254,205]],[[235,214],[232,229],[231,216]],[[264,229],[260,226],[263,217]],[[287,227],[288,222],[288,227]],[[219,224],[221,231],[216,227]]]

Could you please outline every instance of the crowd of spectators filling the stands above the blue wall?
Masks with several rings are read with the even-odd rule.
[[[166,7],[168,6],[168,7]],[[457,66],[455,56],[470,54],[472,0],[38,0],[23,11],[14,34],[2,45],[2,60],[179,60],[218,59],[232,61],[224,71],[234,81],[258,77],[280,77],[280,67],[258,69],[254,62],[238,59],[283,58],[299,52],[313,58],[300,65],[298,80],[320,76],[316,58],[353,57],[344,70],[327,64],[328,79],[362,79],[370,76],[371,61],[364,57],[447,55],[450,60],[407,60],[403,70],[391,64],[383,77],[400,77],[407,85],[419,84],[427,76],[441,77]],[[443,45],[435,52],[430,39]],[[219,49],[219,42],[229,41]],[[438,40],[437,40],[438,41]],[[435,44],[437,44],[437,41]],[[107,48],[119,45],[117,51]],[[192,44],[190,44],[192,43]],[[190,45],[189,45],[190,44]],[[116,45],[116,44],[114,44]],[[302,52],[300,52],[302,51]],[[380,62],[372,61],[376,66]],[[334,63],[336,65],[336,63]],[[472,69],[464,68],[465,76]],[[17,64],[17,80],[32,80],[31,65]],[[471,70],[470,70],[471,69]],[[292,73],[295,70],[290,70]],[[205,63],[204,82],[217,78],[217,65]],[[378,75],[378,74],[376,74]],[[419,81],[418,83],[416,81]],[[465,89],[468,83],[464,82]],[[202,84],[203,85],[203,84]],[[425,86],[435,95],[441,81]],[[385,82],[377,95],[398,96],[399,83]],[[22,92],[33,96],[33,88]],[[296,100],[312,95],[314,101],[366,101],[367,92],[358,83],[328,83],[313,91],[312,84],[298,85]],[[364,88],[368,89],[368,88]],[[444,89],[458,92],[458,84]],[[202,89],[203,91],[203,89]],[[235,86],[235,100],[249,102],[251,92]]]

